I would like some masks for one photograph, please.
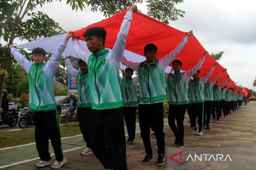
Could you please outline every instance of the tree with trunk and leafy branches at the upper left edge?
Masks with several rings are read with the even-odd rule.
[[[59,0],[61,1],[61,0]],[[59,23],[42,12],[33,12],[36,6],[51,3],[52,0],[0,0],[0,38],[7,42],[3,46],[0,42],[0,68],[8,71],[11,61],[9,44],[13,44],[15,38],[29,41],[39,38],[51,37],[65,33]],[[87,0],[68,0],[67,4],[72,9],[81,10],[85,7]],[[25,20],[25,17],[29,19]],[[5,85],[5,73],[0,75],[0,96],[2,96]],[[0,103],[2,98],[0,98]]]

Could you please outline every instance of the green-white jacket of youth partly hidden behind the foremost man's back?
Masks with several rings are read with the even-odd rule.
[[[76,70],[75,68],[73,68],[69,58],[65,60],[65,64],[66,64],[68,73],[71,74],[73,77],[75,77],[77,81],[78,102],[76,105],[79,108],[92,107],[88,73],[85,74],[85,73],[82,73],[82,71]]]

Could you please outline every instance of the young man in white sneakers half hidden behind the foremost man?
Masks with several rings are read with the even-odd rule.
[[[77,81],[78,102],[77,116],[83,139],[86,141],[86,148],[80,153],[81,155],[92,154],[89,138],[90,112],[92,111],[91,94],[88,80],[88,67],[85,61],[79,60],[80,70],[75,69],[71,62],[70,56],[65,57],[65,64],[70,75],[75,77]]]

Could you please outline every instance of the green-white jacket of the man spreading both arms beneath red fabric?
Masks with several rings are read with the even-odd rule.
[[[138,72],[140,104],[159,103],[167,98],[164,75],[165,68],[170,64],[174,57],[178,55],[183,46],[187,43],[187,40],[188,36],[185,36],[173,51],[150,64],[147,64],[146,61],[127,61],[127,59],[123,57],[122,64]]]

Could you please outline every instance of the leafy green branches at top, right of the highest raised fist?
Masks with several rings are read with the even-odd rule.
[[[184,17],[185,12],[181,9],[177,9],[175,5],[182,3],[183,0],[146,0],[147,15],[169,24],[169,20],[176,21],[178,16]]]

